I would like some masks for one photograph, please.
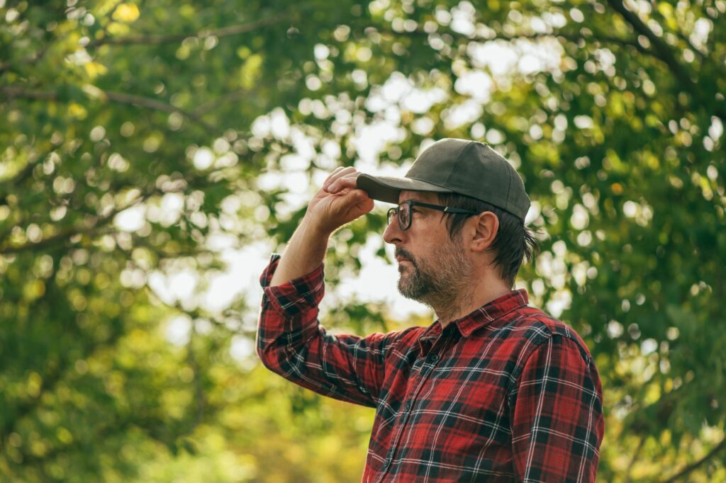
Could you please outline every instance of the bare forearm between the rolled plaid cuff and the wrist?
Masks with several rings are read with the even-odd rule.
[[[285,284],[314,271],[325,258],[328,239],[330,234],[316,228],[309,218],[303,218],[287,243],[270,286]]]

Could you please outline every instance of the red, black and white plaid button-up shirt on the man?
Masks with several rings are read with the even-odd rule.
[[[364,482],[594,482],[603,395],[582,339],[510,292],[441,330],[328,334],[322,265],[270,287],[257,352],[270,370],[375,408]]]

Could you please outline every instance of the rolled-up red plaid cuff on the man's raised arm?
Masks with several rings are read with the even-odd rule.
[[[322,300],[325,294],[324,264],[321,263],[314,271],[293,278],[278,286],[269,286],[272,276],[277,270],[281,256],[273,253],[270,262],[260,276],[260,285],[264,291],[263,305],[271,302],[282,313],[287,315],[298,315],[304,310],[309,310]]]

